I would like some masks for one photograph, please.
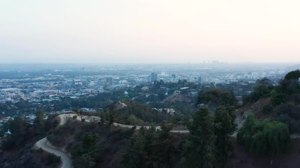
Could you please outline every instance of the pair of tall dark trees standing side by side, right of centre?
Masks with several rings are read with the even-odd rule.
[[[224,167],[233,150],[230,135],[235,131],[232,107],[219,106],[215,116],[207,107],[194,114],[188,126],[190,134],[184,144],[185,167]]]

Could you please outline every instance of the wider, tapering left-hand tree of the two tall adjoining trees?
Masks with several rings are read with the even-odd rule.
[[[190,134],[184,144],[185,167],[214,167],[216,163],[216,136],[214,119],[207,107],[201,107],[188,125]]]

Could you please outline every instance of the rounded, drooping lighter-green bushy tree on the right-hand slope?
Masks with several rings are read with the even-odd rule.
[[[286,124],[278,121],[260,122],[253,114],[249,114],[238,131],[237,140],[257,155],[279,154],[287,149],[290,135]]]

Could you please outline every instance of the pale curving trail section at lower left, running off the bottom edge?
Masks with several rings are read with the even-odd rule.
[[[41,139],[40,141],[38,141],[36,143],[36,146],[39,147],[39,148],[42,148],[43,150],[49,152],[49,153],[53,153],[54,155],[56,156],[61,156],[61,159],[62,159],[62,168],[70,168],[70,167],[73,167],[72,166],[72,160],[71,158],[64,152],[62,151],[59,151],[59,150],[56,150],[50,146],[47,145],[47,138],[43,138]]]

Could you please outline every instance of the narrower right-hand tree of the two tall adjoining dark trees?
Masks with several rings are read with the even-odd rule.
[[[230,135],[236,130],[234,109],[231,107],[219,106],[215,113],[215,134],[217,147],[218,167],[224,167],[228,161],[228,152],[232,151],[234,144]]]

